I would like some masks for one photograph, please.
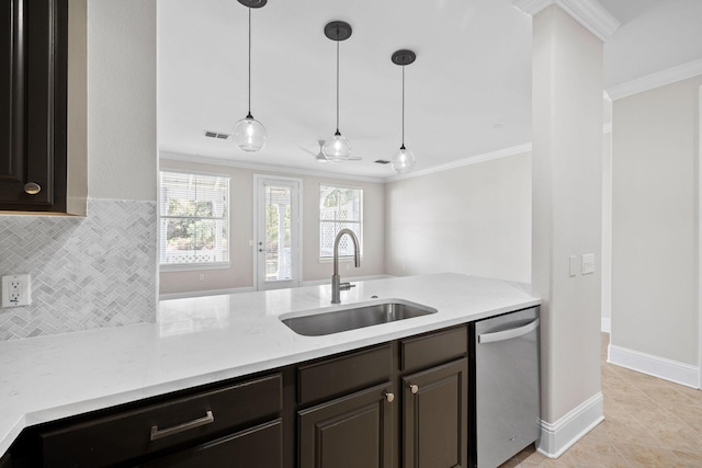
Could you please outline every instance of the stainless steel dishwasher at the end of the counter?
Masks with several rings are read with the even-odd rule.
[[[539,438],[539,308],[471,323],[472,466],[495,468]]]

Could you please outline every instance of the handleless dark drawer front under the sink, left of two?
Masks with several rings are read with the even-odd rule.
[[[393,374],[392,350],[388,343],[298,367],[299,403],[319,401],[387,380]]]

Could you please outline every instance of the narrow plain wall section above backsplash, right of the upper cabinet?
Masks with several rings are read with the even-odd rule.
[[[89,0],[88,44],[88,194],[156,201],[156,0]]]

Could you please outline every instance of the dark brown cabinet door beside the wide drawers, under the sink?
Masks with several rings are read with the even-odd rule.
[[[299,411],[299,468],[389,468],[394,398],[386,383]]]

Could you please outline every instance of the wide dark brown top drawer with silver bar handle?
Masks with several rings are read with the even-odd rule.
[[[278,418],[280,374],[41,434],[44,467],[99,467]]]

